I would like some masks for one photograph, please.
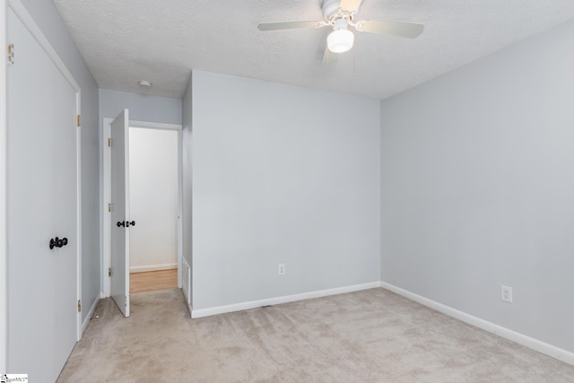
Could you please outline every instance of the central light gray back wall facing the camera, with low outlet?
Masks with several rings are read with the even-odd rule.
[[[192,80],[194,309],[378,282],[379,101]]]

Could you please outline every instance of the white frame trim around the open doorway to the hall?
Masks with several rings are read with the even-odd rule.
[[[101,205],[101,286],[102,298],[110,296],[111,281],[108,276],[109,265],[111,265],[111,214],[108,211],[108,204],[111,200],[111,150],[108,146],[108,138],[111,136],[110,124],[114,118],[103,118],[102,121],[102,205]],[[158,122],[147,122],[131,120],[129,127],[141,127],[158,130],[175,130],[178,132],[178,288],[181,288],[181,259],[183,257],[183,152],[182,152],[182,126],[177,124],[164,124]],[[108,215],[109,214],[109,215]]]

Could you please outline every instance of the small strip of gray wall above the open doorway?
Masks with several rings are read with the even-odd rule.
[[[129,109],[129,119],[162,124],[181,124],[181,100],[100,89],[100,124]]]

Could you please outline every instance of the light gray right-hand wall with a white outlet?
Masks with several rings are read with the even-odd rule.
[[[572,47],[574,22],[381,102],[383,281],[570,352]]]

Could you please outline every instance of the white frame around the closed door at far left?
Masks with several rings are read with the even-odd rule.
[[[70,86],[74,89],[76,97],[75,97],[75,109],[76,109],[76,114],[78,116],[81,116],[81,105],[82,105],[82,99],[81,99],[81,93],[82,93],[82,89],[80,88],[80,85],[78,83],[76,83],[74,76],[68,71],[67,67],[65,66],[64,62],[62,61],[62,59],[58,56],[57,51],[55,48],[52,47],[52,45],[50,44],[48,38],[46,38],[46,36],[44,35],[44,33],[42,32],[42,30],[39,29],[38,24],[36,24],[36,22],[34,21],[34,19],[31,17],[30,13],[28,13],[28,10],[26,9],[26,7],[22,4],[21,0],[3,0],[2,4],[0,4],[0,6],[2,7],[2,10],[0,11],[0,17],[2,17],[2,19],[5,21],[6,17],[7,17],[7,7],[10,7],[10,9],[13,10],[13,13],[16,14],[16,16],[21,20],[22,24],[26,27],[27,30],[30,31],[30,35],[36,39],[36,41],[38,42],[39,46],[41,48],[44,49],[44,51],[46,52],[46,54],[48,55],[48,57],[50,58],[50,60],[52,61],[52,63],[57,67],[57,69],[59,70],[59,72],[64,76],[65,80],[70,84]],[[0,31],[0,40],[2,40],[2,42],[4,43],[4,47],[6,47],[7,44],[7,29],[4,28]],[[16,55],[17,57],[17,55]],[[7,90],[6,90],[6,79],[7,79],[7,65],[2,65],[2,69],[0,70],[0,84],[2,85],[1,89],[3,90],[0,93],[0,105],[3,105],[4,108],[1,108],[2,111],[0,112],[0,120],[1,120],[1,126],[2,126],[2,135],[0,137],[0,146],[4,147],[4,149],[6,148],[6,133],[7,133],[7,112],[6,112],[6,108],[7,107],[7,100],[6,100],[6,94],[7,94]],[[77,241],[76,241],[76,299],[78,301],[82,300],[82,126],[81,124],[78,124],[78,126],[76,126],[75,129],[75,151],[76,151],[76,237],[77,237]],[[7,166],[6,166],[6,159],[2,158],[2,160],[0,161],[0,168],[2,168],[4,177],[2,178],[2,181],[0,181],[1,183],[1,189],[2,192],[1,197],[0,197],[0,202],[2,202],[2,220],[1,220],[1,234],[0,234],[0,239],[2,239],[2,250],[0,250],[0,264],[3,264],[2,270],[2,274],[6,273],[6,267],[4,267],[7,263],[7,261],[9,260],[9,255],[7,254],[6,251],[6,213],[5,213],[5,206],[6,206],[6,170],[7,170]],[[0,275],[0,276],[6,276],[7,275]],[[2,292],[2,298],[0,298],[0,309],[2,309],[2,317],[0,317],[0,323],[4,323],[4,329],[5,331],[3,332],[2,335],[0,335],[0,339],[3,340],[4,342],[2,342],[2,344],[4,344],[5,349],[3,348],[2,350],[0,350],[0,367],[4,366],[4,370],[5,370],[5,362],[6,362],[6,357],[7,357],[7,334],[9,331],[8,328],[8,324],[7,324],[7,316],[6,316],[6,309],[7,309],[7,300],[9,297],[9,293],[7,292],[7,284],[6,284],[6,280],[7,278],[4,277],[2,278],[3,280],[3,288],[0,289],[0,292]],[[5,290],[4,290],[5,289]],[[41,320],[39,318],[39,320]],[[77,314],[76,314],[76,328],[75,328],[75,334],[76,334],[76,341],[79,341],[82,338],[83,335],[83,326],[82,326],[82,310],[78,310]]]

